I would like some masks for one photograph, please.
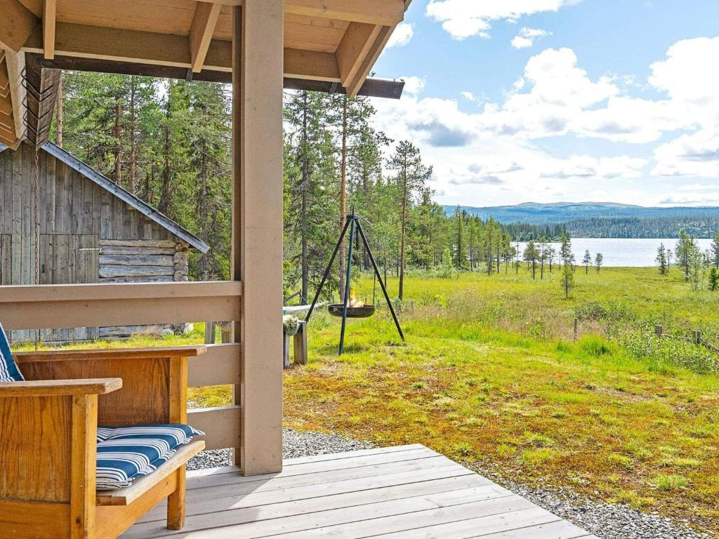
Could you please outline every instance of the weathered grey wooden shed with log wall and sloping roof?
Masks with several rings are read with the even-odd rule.
[[[190,249],[209,250],[55,144],[38,149],[37,170],[32,144],[5,150],[0,145],[0,285],[187,281]],[[77,328],[47,332],[43,339],[127,336],[141,330]],[[14,338],[27,338],[25,333],[14,332]]]

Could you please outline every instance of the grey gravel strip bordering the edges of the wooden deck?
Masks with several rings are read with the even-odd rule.
[[[342,453],[372,448],[372,444],[352,440],[339,434],[301,432],[285,428],[283,456],[294,459],[300,456]],[[232,450],[205,451],[188,463],[188,469],[231,466]],[[555,515],[574,522],[601,539],[713,539],[715,536],[696,533],[686,524],[677,524],[649,515],[626,505],[606,504],[582,499],[569,489],[528,489],[519,484],[507,483],[487,474],[503,487],[519,494]]]

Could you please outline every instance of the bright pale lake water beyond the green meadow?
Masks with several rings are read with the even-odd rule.
[[[697,239],[702,251],[707,251],[712,243],[710,239]],[[572,252],[577,264],[582,264],[585,250],[592,253],[592,260],[597,253],[602,253],[605,267],[651,267],[656,265],[656,249],[660,244],[674,249],[676,239],[619,239],[619,238],[572,238]],[[524,252],[526,242],[519,242]],[[553,243],[559,252],[559,244]]]

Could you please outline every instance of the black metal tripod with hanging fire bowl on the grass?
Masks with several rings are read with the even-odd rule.
[[[339,246],[342,245],[342,240],[344,239],[344,236],[347,235],[347,229],[349,229],[349,249],[347,253],[347,276],[344,280],[344,302],[334,303],[332,305],[329,305],[328,308],[331,315],[342,317],[342,331],[340,331],[339,333],[339,356],[342,356],[342,353],[344,352],[344,331],[347,328],[347,318],[368,318],[375,314],[375,305],[349,305],[349,280],[352,277],[352,247],[354,247],[355,234],[359,234],[359,237],[362,239],[362,243],[365,244],[365,249],[367,249],[367,255],[370,259],[370,262],[372,262],[372,267],[375,270],[377,280],[380,282],[380,287],[382,287],[382,292],[385,295],[385,300],[387,301],[387,306],[390,309],[390,313],[392,313],[392,318],[395,321],[395,326],[397,326],[397,331],[400,334],[402,342],[405,341],[404,333],[402,332],[402,328],[400,327],[400,321],[397,318],[395,309],[393,308],[392,302],[390,301],[390,296],[387,293],[387,287],[385,287],[385,282],[382,280],[382,275],[380,274],[380,269],[377,267],[377,262],[375,262],[375,257],[374,255],[372,255],[372,249],[370,249],[370,242],[367,241],[365,231],[364,229],[362,229],[362,224],[359,222],[359,216],[354,213],[354,210],[352,210],[352,213],[347,216],[347,223],[344,224],[342,234],[339,235],[339,241],[337,241],[337,244],[334,247],[334,252],[332,253],[332,257],[329,259],[329,264],[327,264],[327,269],[324,271],[324,275],[322,276],[322,280],[319,284],[319,287],[317,288],[317,293],[312,300],[312,305],[307,313],[307,318],[305,318],[305,321],[310,321],[310,317],[314,311],[315,305],[317,305],[317,301],[319,300],[319,295],[322,292],[322,287],[324,287],[324,284],[327,281],[327,277],[329,277],[329,272],[331,270],[332,264],[334,264],[334,259],[337,257],[337,253],[339,252]]]

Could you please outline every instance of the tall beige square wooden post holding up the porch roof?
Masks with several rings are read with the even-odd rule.
[[[283,6],[234,8],[232,278],[244,283],[235,328],[244,475],[282,469]]]

